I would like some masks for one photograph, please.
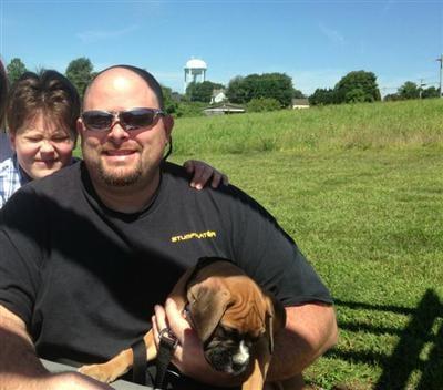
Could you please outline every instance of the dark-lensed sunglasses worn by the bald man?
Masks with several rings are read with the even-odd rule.
[[[166,115],[157,109],[131,109],[127,111],[91,110],[82,113],[82,120],[87,130],[94,132],[110,131],[116,122],[124,131],[151,126],[157,116]]]

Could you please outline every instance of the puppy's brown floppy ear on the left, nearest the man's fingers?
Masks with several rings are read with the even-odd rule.
[[[193,326],[205,342],[225,314],[230,292],[225,288],[212,286],[207,280],[193,286],[188,292]]]

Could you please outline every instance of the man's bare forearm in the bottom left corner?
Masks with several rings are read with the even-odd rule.
[[[110,390],[76,372],[49,373],[35,355],[24,322],[0,306],[0,389],[2,390]]]

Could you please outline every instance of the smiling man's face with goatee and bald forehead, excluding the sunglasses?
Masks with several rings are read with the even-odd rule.
[[[83,111],[120,112],[135,107],[159,109],[143,79],[125,69],[112,69],[91,85]],[[113,187],[151,185],[158,177],[171,130],[172,119],[162,116],[151,126],[127,131],[115,120],[109,131],[92,131],[80,119],[83,158],[92,179]]]

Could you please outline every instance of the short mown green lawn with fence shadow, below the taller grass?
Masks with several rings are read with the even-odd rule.
[[[340,341],[311,384],[443,389],[443,148],[199,157],[264,204],[332,290]]]

